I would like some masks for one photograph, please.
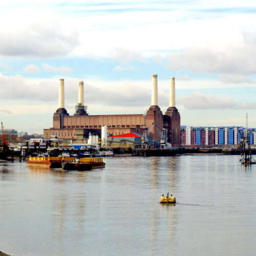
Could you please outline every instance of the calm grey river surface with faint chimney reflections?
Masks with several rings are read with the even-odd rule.
[[[93,172],[0,164],[0,251],[255,255],[256,165],[217,155],[104,161]],[[175,205],[159,204],[167,192]]]

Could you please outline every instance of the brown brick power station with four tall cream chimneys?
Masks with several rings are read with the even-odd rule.
[[[170,77],[169,107],[162,114],[158,106],[158,81],[157,75],[152,75],[152,103],[145,115],[89,115],[87,106],[84,105],[83,81],[78,85],[78,104],[75,106],[75,114],[69,115],[65,109],[64,79],[59,79],[59,105],[53,115],[53,127],[44,129],[44,138],[56,136],[58,139],[78,140],[85,143],[89,134],[101,136],[101,127],[106,126],[108,136],[126,133],[143,135],[147,129],[151,129],[150,137],[153,141],[161,139],[161,133],[165,129],[167,142],[173,146],[180,146],[180,114],[175,104],[175,78]]]

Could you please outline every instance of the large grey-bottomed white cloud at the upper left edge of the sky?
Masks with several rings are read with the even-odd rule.
[[[56,18],[24,22],[0,30],[0,55],[14,57],[56,57],[68,55],[78,45],[75,29],[63,29]],[[11,26],[11,25],[9,25]]]

